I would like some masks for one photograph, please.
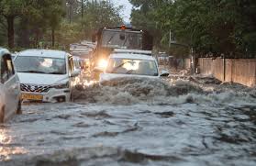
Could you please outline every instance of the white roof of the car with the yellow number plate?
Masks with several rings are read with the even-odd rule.
[[[18,56],[48,57],[61,59],[64,59],[67,55],[68,53],[62,50],[23,50],[18,53]]]

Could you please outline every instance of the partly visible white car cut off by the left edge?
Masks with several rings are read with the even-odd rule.
[[[13,114],[21,114],[20,84],[11,54],[0,48],[0,123]]]

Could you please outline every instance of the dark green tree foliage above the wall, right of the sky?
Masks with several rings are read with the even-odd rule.
[[[135,6],[133,26],[160,29],[156,38],[168,47],[169,32],[198,54],[252,57],[256,52],[256,1],[254,0],[130,0]],[[150,17],[148,17],[150,16]],[[145,24],[141,17],[148,17]]]

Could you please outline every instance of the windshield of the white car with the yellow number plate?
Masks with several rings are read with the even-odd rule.
[[[65,74],[65,59],[20,56],[15,61],[17,72]]]

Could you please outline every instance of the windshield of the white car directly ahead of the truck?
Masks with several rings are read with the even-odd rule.
[[[155,61],[110,59],[106,68],[107,73],[122,73],[158,76],[158,69]]]

